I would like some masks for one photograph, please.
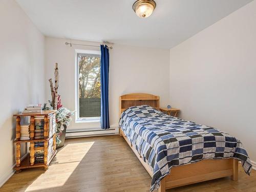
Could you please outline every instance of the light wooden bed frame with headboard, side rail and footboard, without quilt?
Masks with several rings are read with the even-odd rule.
[[[120,96],[120,114],[130,106],[147,104],[159,109],[159,96],[132,93]],[[142,165],[147,170],[148,174],[153,177],[152,168],[143,161],[143,158],[138,154],[136,148],[126,138],[122,130],[119,128],[119,134],[132,148],[135,155],[138,157]],[[238,180],[238,160],[235,159],[213,159],[201,160],[197,163],[180,165],[173,167],[170,174],[161,180],[158,192],[165,192],[166,189],[179,187],[183,185],[199,183],[202,181],[231,176],[234,181]]]

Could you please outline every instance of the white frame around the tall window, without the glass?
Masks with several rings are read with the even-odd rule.
[[[76,49],[75,50],[75,110],[76,110],[76,123],[83,123],[83,122],[100,122],[100,117],[79,117],[79,87],[78,87],[78,60],[77,55],[81,54],[92,54],[92,55],[101,55],[100,51],[94,50],[82,50]]]

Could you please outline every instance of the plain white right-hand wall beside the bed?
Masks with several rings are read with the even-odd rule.
[[[170,50],[181,117],[239,138],[256,162],[256,1]]]

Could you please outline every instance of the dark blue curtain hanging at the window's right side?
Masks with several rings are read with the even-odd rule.
[[[109,49],[108,46],[100,45],[100,110],[101,110],[101,129],[109,129]]]

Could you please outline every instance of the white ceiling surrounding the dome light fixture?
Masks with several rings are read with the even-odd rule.
[[[46,36],[172,48],[252,0],[155,0],[148,18],[135,0],[16,0]]]

